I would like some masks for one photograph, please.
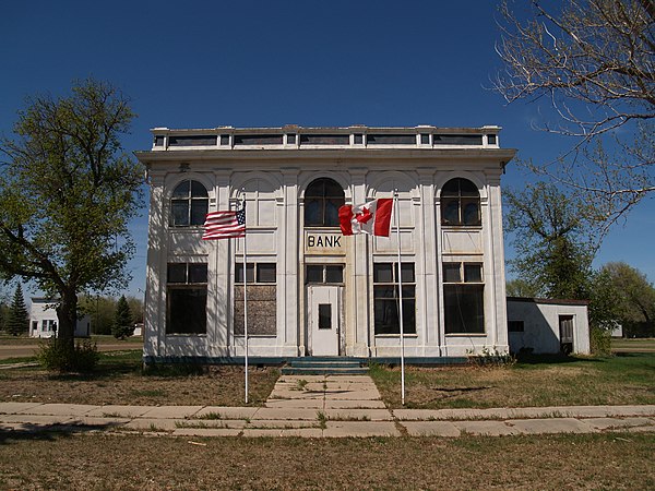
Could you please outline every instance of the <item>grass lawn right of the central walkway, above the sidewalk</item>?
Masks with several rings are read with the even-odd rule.
[[[401,405],[400,368],[369,371],[389,407]],[[504,367],[405,370],[405,407],[487,408],[655,404],[655,354],[541,358]]]

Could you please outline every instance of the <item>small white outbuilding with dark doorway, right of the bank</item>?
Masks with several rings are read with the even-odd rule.
[[[588,355],[588,302],[508,297],[510,351]]]

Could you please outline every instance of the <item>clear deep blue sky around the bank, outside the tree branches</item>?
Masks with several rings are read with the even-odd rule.
[[[501,146],[547,161],[571,142],[531,129],[546,103],[505,106],[488,88],[501,69],[497,16],[489,0],[4,2],[0,132],[26,96],[92,75],[132,98],[129,152],[148,149],[155,127],[498,124]],[[503,185],[524,180],[510,164]],[[615,227],[596,265],[626,261],[655,280],[654,209],[644,202]],[[146,215],[131,226],[134,296]]]

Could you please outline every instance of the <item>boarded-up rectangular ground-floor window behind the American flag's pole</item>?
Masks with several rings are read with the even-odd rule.
[[[275,336],[277,333],[277,267],[275,263],[246,264],[248,285],[248,335]],[[235,264],[234,330],[246,332],[243,324],[243,263]]]

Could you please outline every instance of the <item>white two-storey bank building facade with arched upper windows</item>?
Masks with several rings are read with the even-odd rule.
[[[243,357],[245,287],[261,360],[398,357],[401,284],[408,360],[508,351],[500,128],[152,132],[146,361]],[[394,192],[390,237],[342,235],[342,205]],[[202,240],[242,199],[246,238]]]

